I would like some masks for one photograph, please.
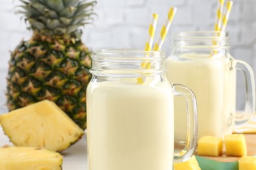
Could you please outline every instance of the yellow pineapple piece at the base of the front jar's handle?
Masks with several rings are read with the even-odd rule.
[[[175,170],[200,170],[196,156],[192,156],[188,161],[182,163],[173,163]]]

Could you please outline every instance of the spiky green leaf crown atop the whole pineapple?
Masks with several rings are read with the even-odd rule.
[[[44,35],[71,35],[80,32],[79,27],[91,24],[96,1],[87,0],[20,0],[25,22],[29,29]],[[79,33],[79,35],[80,35]]]

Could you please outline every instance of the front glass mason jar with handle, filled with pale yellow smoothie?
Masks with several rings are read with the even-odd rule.
[[[174,156],[175,161],[188,160],[197,142],[196,99],[188,88],[167,81],[164,53],[98,50],[92,59],[93,78],[87,87],[89,170],[170,170]],[[176,153],[173,97],[178,95],[188,103],[189,141]]]

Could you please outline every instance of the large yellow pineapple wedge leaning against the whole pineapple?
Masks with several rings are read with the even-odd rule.
[[[84,134],[55,103],[44,100],[0,116],[0,124],[16,146],[61,152]]]

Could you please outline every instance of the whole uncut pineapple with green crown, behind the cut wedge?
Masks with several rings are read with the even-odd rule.
[[[92,18],[95,1],[21,0],[33,31],[11,53],[7,105],[18,109],[43,99],[54,101],[86,128],[86,88],[91,80],[90,51],[79,27]]]

